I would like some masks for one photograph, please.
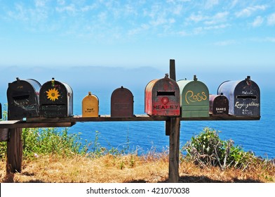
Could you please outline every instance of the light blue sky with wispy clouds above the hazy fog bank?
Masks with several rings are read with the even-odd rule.
[[[162,71],[173,58],[179,72],[275,74],[274,0],[0,0],[0,13],[1,67]]]

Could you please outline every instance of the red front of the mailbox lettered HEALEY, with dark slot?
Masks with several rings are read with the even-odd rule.
[[[157,80],[152,89],[152,115],[180,115],[180,89],[168,77]]]

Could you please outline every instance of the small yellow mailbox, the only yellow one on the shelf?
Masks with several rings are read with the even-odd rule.
[[[98,102],[98,97],[89,91],[82,100],[82,117],[98,117]]]

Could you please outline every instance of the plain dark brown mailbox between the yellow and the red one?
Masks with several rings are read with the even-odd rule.
[[[115,89],[111,96],[111,117],[133,117],[134,96],[124,87]]]

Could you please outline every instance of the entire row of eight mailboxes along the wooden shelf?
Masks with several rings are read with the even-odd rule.
[[[8,120],[24,117],[67,117],[73,115],[73,92],[68,84],[51,81],[15,80],[8,84]],[[133,117],[133,94],[115,89],[111,96],[111,117]],[[88,93],[82,101],[83,117],[98,117],[99,99]],[[246,80],[226,81],[217,94],[197,80],[175,82],[168,75],[145,87],[145,113],[152,116],[208,117],[209,115],[260,115],[260,89]]]

